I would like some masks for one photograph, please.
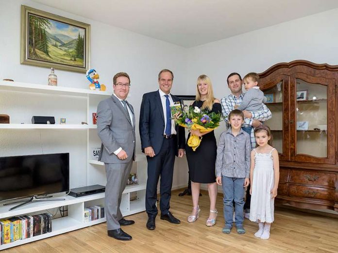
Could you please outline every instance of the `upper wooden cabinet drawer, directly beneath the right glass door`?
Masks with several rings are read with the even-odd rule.
[[[290,182],[305,185],[335,187],[336,175],[323,172],[290,171]]]

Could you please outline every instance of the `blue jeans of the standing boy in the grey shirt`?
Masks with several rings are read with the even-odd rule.
[[[244,181],[245,178],[222,176],[223,214],[225,225],[233,225],[233,202],[235,201],[235,223],[242,225],[244,221]]]

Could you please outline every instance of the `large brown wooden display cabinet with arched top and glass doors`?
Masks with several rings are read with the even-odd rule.
[[[276,201],[338,211],[338,65],[278,63],[259,77],[280,158]]]

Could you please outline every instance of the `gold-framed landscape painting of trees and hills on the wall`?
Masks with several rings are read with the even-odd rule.
[[[85,73],[90,25],[21,5],[21,63]]]

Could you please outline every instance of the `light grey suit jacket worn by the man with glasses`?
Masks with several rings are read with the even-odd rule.
[[[121,102],[115,95],[101,101],[97,110],[98,135],[101,139],[99,161],[104,163],[127,163],[135,160],[135,113],[128,103],[133,114],[133,125],[129,114],[124,110]],[[127,153],[128,158],[118,159],[113,153],[119,147]]]

